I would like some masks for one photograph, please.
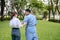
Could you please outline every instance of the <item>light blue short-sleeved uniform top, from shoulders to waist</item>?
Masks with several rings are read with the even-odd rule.
[[[35,27],[36,26],[36,17],[32,14],[25,16],[23,23],[27,23],[26,27]]]

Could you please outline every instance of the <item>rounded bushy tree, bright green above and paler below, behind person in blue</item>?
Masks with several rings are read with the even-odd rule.
[[[30,1],[30,9],[32,10],[32,12],[34,14],[40,14],[40,11],[44,10],[44,3],[42,1],[38,1],[38,0],[31,0]],[[42,12],[41,11],[41,12]]]

